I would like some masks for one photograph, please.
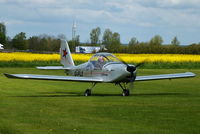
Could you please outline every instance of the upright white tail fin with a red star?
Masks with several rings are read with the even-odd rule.
[[[65,41],[65,40],[61,40],[61,44],[60,44],[60,63],[64,67],[73,67],[74,66],[74,61],[71,56],[69,45],[68,45],[67,41]]]

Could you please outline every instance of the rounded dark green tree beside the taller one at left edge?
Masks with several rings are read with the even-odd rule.
[[[13,47],[19,50],[26,50],[28,48],[28,43],[26,40],[26,33],[21,32],[12,40]]]

